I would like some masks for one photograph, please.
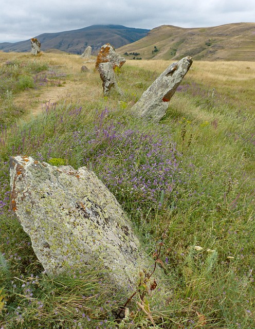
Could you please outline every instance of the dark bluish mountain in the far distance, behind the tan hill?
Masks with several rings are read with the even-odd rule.
[[[136,29],[122,25],[92,25],[78,30],[43,33],[35,36],[41,42],[41,50],[58,49],[68,53],[81,54],[87,46],[97,53],[101,46],[109,42],[115,48],[143,38],[150,30]],[[5,52],[27,52],[31,50],[30,40],[15,43],[0,43]]]

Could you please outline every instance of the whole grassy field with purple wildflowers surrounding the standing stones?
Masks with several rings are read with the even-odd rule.
[[[137,120],[132,105],[170,63],[128,61],[116,70],[124,96],[104,96],[79,56],[0,52],[1,329],[254,328],[255,62],[195,61],[166,116]],[[160,305],[147,296],[146,313],[134,297],[116,320],[129,296],[101,273],[47,276],[9,208],[17,154],[88,166],[148,254],[163,243]]]

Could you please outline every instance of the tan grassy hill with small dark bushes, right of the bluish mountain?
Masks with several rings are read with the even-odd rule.
[[[254,61],[255,23],[233,23],[206,28],[162,25],[144,38],[117,49],[126,58]],[[134,54],[136,56],[134,56]]]

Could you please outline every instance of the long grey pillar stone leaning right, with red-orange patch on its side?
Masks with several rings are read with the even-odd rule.
[[[171,64],[153,84],[145,90],[141,98],[132,107],[132,111],[139,117],[159,121],[166,114],[169,101],[191,64],[191,57],[185,57],[178,63]]]

